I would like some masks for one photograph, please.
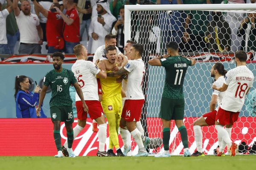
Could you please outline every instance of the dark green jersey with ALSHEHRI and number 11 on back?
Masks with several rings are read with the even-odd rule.
[[[160,62],[166,71],[162,97],[183,99],[183,82],[187,68],[192,64],[191,60],[181,56],[173,56],[160,59]]]

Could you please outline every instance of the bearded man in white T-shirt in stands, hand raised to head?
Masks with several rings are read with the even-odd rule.
[[[21,11],[18,8],[18,0],[13,0],[13,10],[20,30],[19,54],[41,54],[43,30],[38,16],[31,14],[28,0],[23,0],[20,8]]]

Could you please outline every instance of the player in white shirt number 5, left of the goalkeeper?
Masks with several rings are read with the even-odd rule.
[[[99,70],[99,68],[96,67],[93,64],[93,62],[86,61],[87,49],[84,47],[84,45],[82,44],[76,45],[73,48],[73,50],[77,60],[72,66],[72,71],[83,92],[84,102],[87,103],[88,113],[90,115],[90,118],[95,119],[99,125],[99,150],[97,152],[97,156],[108,156],[108,154],[105,152],[105,143],[106,143],[106,137],[107,137],[107,123],[105,122],[102,105],[99,102],[97,79],[95,77],[97,75],[104,79],[107,77],[107,74],[106,74],[106,71],[104,70],[104,65],[101,65],[101,68],[103,69]],[[77,110],[78,123],[76,127],[74,127],[74,139],[84,128],[87,120],[87,112],[85,112],[82,109],[81,103],[82,103],[81,100],[76,94],[76,110]],[[65,144],[64,144],[64,147],[66,147]],[[63,152],[64,151],[65,150],[63,149]]]

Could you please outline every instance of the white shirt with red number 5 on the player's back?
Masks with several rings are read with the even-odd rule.
[[[99,100],[98,84],[95,77],[100,71],[99,68],[90,61],[79,59],[76,60],[71,69],[81,87],[84,100]],[[76,93],[76,101],[80,100]]]

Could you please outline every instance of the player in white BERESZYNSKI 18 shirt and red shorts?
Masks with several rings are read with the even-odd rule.
[[[246,60],[247,54],[244,51],[236,51],[236,68],[227,72],[225,81],[220,88],[216,85],[212,86],[217,91],[226,91],[215,118],[218,138],[222,138],[222,141],[225,142],[221,143],[217,156],[222,155],[226,143],[231,150],[231,156],[236,155],[237,144],[231,141],[227,130],[223,126],[232,127],[234,122],[237,121],[239,112],[244,105],[245,95],[248,94],[253,86],[254,76],[252,71],[246,67]]]

